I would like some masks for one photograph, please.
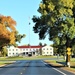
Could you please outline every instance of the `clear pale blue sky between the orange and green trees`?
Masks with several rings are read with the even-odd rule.
[[[0,0],[0,14],[11,16],[17,22],[16,29],[18,32],[26,35],[18,45],[29,43],[31,45],[38,45],[39,42],[48,45],[52,44],[48,37],[45,40],[39,40],[38,34],[33,32],[34,23],[32,17],[33,15],[40,15],[37,12],[40,2],[41,0]],[[29,22],[31,23],[30,26]]]

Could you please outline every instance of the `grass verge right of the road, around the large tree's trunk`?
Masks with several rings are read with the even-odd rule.
[[[60,60],[58,60],[58,61],[45,60],[45,62],[47,62],[48,64],[51,64],[52,66],[59,67],[59,68],[62,68],[64,70],[71,71],[71,72],[75,73],[75,58],[71,58],[70,68],[64,66],[65,60],[61,60],[61,61]]]

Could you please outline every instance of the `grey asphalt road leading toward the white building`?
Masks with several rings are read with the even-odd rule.
[[[1,67],[0,75],[75,75],[60,68],[53,68],[41,60],[17,61]]]

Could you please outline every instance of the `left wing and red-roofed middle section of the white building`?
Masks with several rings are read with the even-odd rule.
[[[40,46],[22,46],[22,47],[10,47],[10,48],[7,48],[8,49],[8,56],[19,56],[19,55],[22,55],[22,56],[28,56],[28,55],[31,55],[31,56],[36,56],[36,55],[39,55],[39,49],[40,49]]]

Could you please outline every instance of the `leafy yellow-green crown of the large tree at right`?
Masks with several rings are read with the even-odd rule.
[[[75,0],[42,0],[38,8],[41,16],[33,16],[33,30],[44,39],[49,34],[49,40],[57,46],[72,47],[75,39]]]

